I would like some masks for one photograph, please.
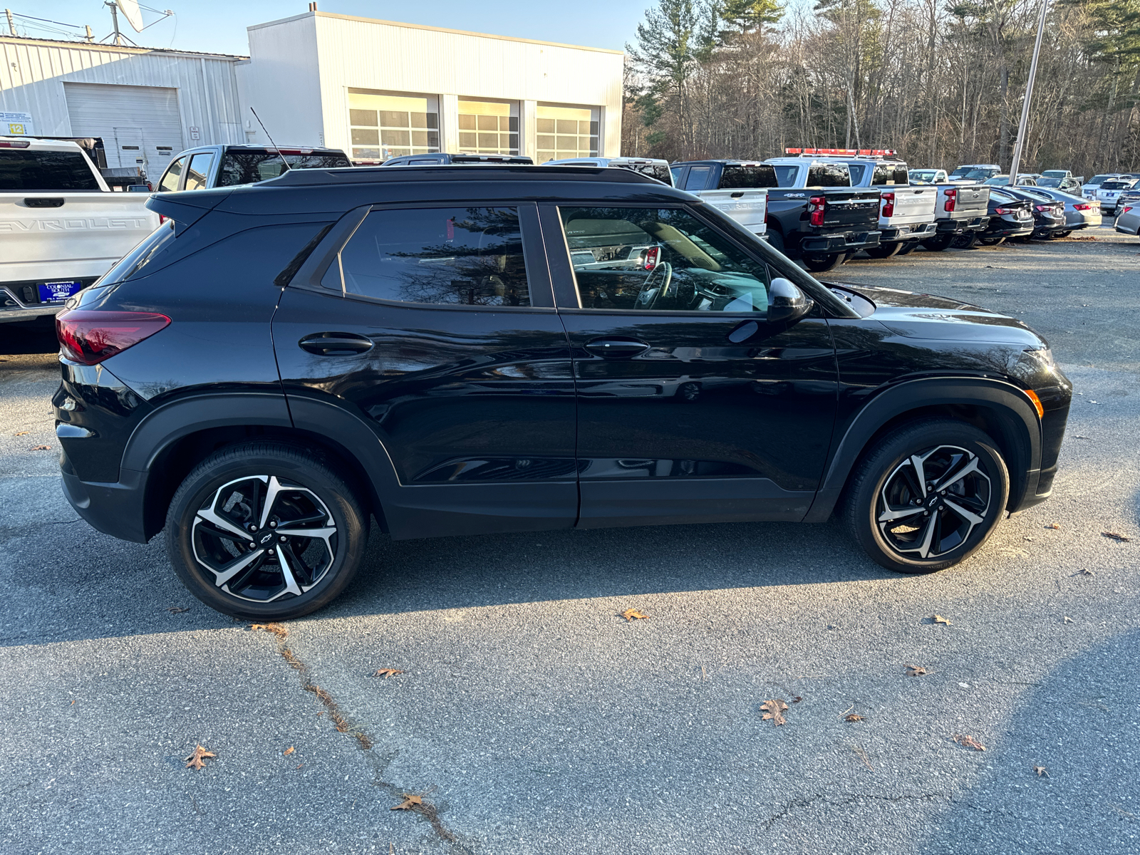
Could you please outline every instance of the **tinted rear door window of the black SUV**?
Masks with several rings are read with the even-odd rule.
[[[530,306],[516,207],[373,211],[341,250],[339,262],[347,295],[443,306]],[[333,272],[323,284],[340,283]]]

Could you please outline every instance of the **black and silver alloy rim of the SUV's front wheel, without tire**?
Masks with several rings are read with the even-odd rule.
[[[991,492],[978,456],[966,448],[938,446],[911,455],[879,491],[879,531],[895,552],[937,559],[985,522]]]

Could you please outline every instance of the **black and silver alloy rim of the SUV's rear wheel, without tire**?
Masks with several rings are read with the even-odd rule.
[[[222,484],[194,518],[194,557],[227,594],[301,596],[336,556],[336,523],[317,495],[276,475]]]

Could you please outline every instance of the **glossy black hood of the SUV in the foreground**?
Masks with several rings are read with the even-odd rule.
[[[868,317],[878,320],[895,335],[906,339],[987,341],[1047,347],[1040,335],[1017,318],[999,315],[971,303],[895,288],[836,284],[873,302],[874,311]]]

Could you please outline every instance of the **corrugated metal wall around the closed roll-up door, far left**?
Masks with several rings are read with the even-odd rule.
[[[169,87],[178,90],[187,146],[244,142],[239,59],[0,36],[0,111],[31,113],[36,133],[68,137],[64,82]]]

